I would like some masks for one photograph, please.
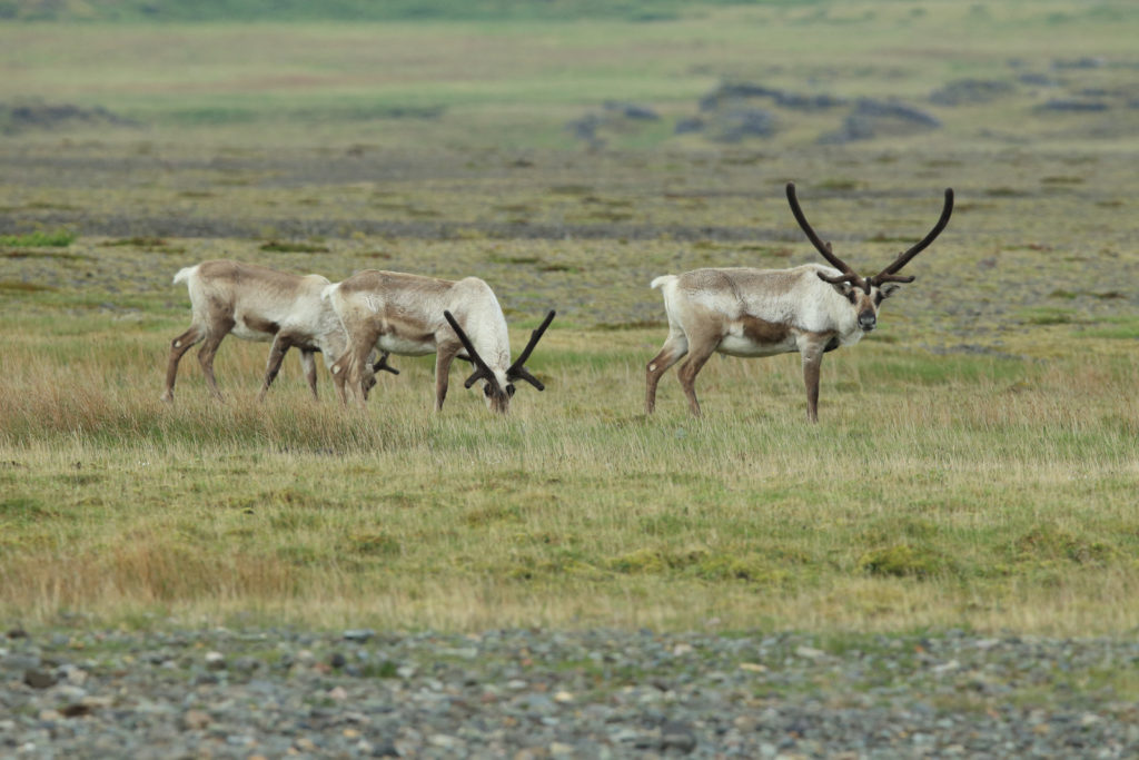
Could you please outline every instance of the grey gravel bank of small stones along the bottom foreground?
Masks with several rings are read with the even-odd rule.
[[[0,755],[1139,753],[1139,643],[349,630],[0,639]]]

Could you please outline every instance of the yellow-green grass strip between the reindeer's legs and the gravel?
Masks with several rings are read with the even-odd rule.
[[[110,334],[98,354],[46,334],[57,350],[9,352],[9,612],[253,608],[459,629],[1136,623],[1112,599],[1139,572],[1139,420],[1104,414],[1139,379],[1133,361],[1008,362],[995,381],[984,360],[927,357],[944,379],[915,391],[912,350],[863,346],[830,362],[819,426],[802,419],[793,361],[722,362],[702,375],[705,419],[671,378],[649,419],[625,374],[653,334],[598,333],[593,358],[575,345],[590,334],[554,332],[532,362],[549,390],[495,419],[458,389],[432,412],[429,362],[412,359],[362,412],[305,401],[295,376],[257,406],[262,351],[237,342],[219,359],[228,404],[190,366],[167,408],[154,397],[178,329]],[[59,362],[73,382],[39,386]],[[1108,367],[1109,383],[1080,385]],[[1083,403],[1066,408],[1076,387]]]

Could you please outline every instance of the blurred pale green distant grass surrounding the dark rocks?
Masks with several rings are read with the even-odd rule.
[[[1125,99],[1128,70],[1114,62],[1129,58],[1137,28],[1121,0],[1093,8],[1014,0],[985,14],[950,2],[710,2],[682,11],[679,3],[653,3],[663,17],[652,23],[637,21],[656,13],[642,2],[616,3],[612,13],[599,13],[604,3],[473,3],[465,16],[428,21],[404,14],[404,3],[379,3],[361,16],[360,6],[349,2],[303,24],[289,23],[301,19],[300,6],[274,5],[265,18],[261,3],[231,5],[195,6],[200,23],[161,23],[186,22],[169,15],[180,3],[155,6],[149,21],[115,3],[92,5],[91,21],[123,14],[131,23],[7,24],[0,50],[9,52],[0,62],[10,64],[10,75],[0,82],[0,103],[104,106],[183,139],[207,131],[214,139],[256,145],[256,136],[271,128],[281,141],[311,144],[317,133],[374,141],[382,125],[384,142],[393,146],[429,139],[436,146],[549,149],[582,147],[566,124],[617,100],[650,106],[662,119],[609,121],[599,130],[607,146],[685,148],[703,138],[677,136],[677,121],[697,115],[699,98],[721,81],[751,81],[849,99],[899,98],[934,112],[943,132],[962,145],[1006,148],[1033,138],[1071,152],[1073,139],[1082,142],[1088,133],[1101,145],[1134,139],[1133,109],[1033,116],[1043,96],[1031,87],[983,105],[928,103],[950,81],[1016,82],[1023,73],[1051,71],[1057,60],[1088,56],[1113,63],[1065,70],[1064,91],[1101,90]],[[1108,21],[1113,13],[1117,17]],[[352,23],[341,21],[350,15]],[[257,21],[224,23],[237,18]],[[910,42],[923,39],[941,42],[936,55]],[[424,57],[421,50],[444,55]],[[763,106],[778,117],[779,130],[768,141],[777,146],[814,145],[845,114]],[[910,142],[928,139],[885,145]],[[863,181],[844,173],[820,177],[839,187]],[[1064,181],[1057,186],[1056,178]],[[1087,182],[1056,166],[1032,178],[1034,187],[1042,181],[1065,193]],[[1003,178],[989,193],[1008,198],[1023,189]]]

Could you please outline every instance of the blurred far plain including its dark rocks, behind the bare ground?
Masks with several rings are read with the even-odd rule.
[[[0,134],[1131,149],[1123,0],[0,0]]]

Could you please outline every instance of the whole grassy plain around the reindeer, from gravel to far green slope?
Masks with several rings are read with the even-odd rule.
[[[1129,8],[0,26],[0,618],[1132,632]],[[727,141],[731,114],[698,103],[724,82],[843,104],[753,97],[775,132]],[[975,100],[933,98],[962,87]],[[828,138],[860,116],[871,137]],[[819,425],[796,356],[711,361],[699,420],[670,374],[647,418],[649,280],[816,260],[787,180],[865,269],[932,226],[944,187],[958,207],[880,330],[827,356]],[[189,320],[170,280],[222,256],[476,273],[516,346],[558,309],[530,362],[547,391],[501,419],[452,383],[435,414],[432,361],[399,358],[342,409],[289,358],[257,404],[267,346],[230,338],[227,403],[188,357],[162,404]]]

